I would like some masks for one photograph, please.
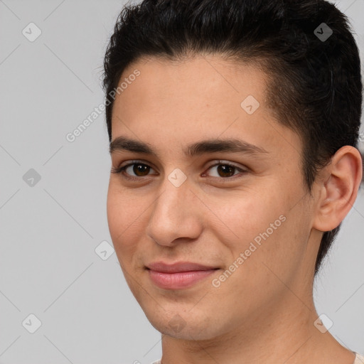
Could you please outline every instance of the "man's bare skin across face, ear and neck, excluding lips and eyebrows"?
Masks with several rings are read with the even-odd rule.
[[[114,102],[112,141],[143,141],[158,156],[112,151],[113,168],[133,160],[151,168],[136,174],[129,167],[125,173],[137,181],[111,173],[107,216],[127,284],[162,333],[162,363],[352,364],[355,355],[314,326],[312,290],[323,231],[345,218],[357,196],[358,150],[341,148],[310,195],[299,135],[274,119],[267,77],[254,65],[218,55],[174,63],[142,58],[121,78],[135,69],[139,77]],[[260,104],[253,114],[240,107],[248,95]],[[188,144],[228,138],[267,153],[183,154]],[[219,160],[245,173],[233,168],[224,175]],[[187,177],[179,187],[168,180],[175,168]],[[281,215],[279,228],[213,287]],[[145,269],[160,260],[220,269],[188,289],[161,289]],[[180,328],[171,324],[176,320]]]

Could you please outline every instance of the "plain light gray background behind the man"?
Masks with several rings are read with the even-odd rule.
[[[129,292],[116,255],[106,250],[103,260],[95,252],[103,241],[112,244],[105,115],[75,141],[65,138],[104,101],[102,60],[123,4],[0,0],[0,363],[144,364],[161,357],[160,334]],[[363,60],[364,0],[337,5],[353,24]],[[22,33],[36,35],[31,22],[42,32],[33,42]],[[363,195],[315,287],[331,333],[361,353]],[[41,321],[34,333],[30,314]]]

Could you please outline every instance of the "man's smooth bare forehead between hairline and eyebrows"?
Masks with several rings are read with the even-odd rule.
[[[129,65],[120,82],[127,87],[114,101],[112,139],[127,134],[151,144],[168,140],[171,149],[202,136],[240,137],[264,149],[297,151],[298,136],[274,119],[267,77],[252,65],[216,55],[144,58]]]

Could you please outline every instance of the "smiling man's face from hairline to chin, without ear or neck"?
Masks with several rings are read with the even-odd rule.
[[[209,56],[140,60],[125,78],[112,114],[112,166],[134,165],[111,173],[107,215],[149,321],[170,336],[206,339],[274,313],[282,319],[282,306],[306,309],[297,296],[309,299],[314,206],[301,141],[272,117],[264,74]],[[122,149],[119,137],[149,144],[155,155]],[[191,144],[232,139],[245,148],[185,154]],[[156,262],[206,270],[147,269]]]

